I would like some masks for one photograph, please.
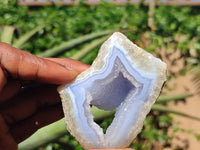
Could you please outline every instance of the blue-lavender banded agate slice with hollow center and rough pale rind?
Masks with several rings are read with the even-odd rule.
[[[58,89],[68,130],[84,149],[129,146],[165,80],[165,63],[123,34],[114,33],[101,46],[92,66]],[[116,110],[105,134],[93,120],[91,104]]]

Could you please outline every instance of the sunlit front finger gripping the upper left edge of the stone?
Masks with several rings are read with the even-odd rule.
[[[0,65],[13,78],[52,84],[69,83],[78,75],[72,68],[34,56],[6,43],[0,43]]]

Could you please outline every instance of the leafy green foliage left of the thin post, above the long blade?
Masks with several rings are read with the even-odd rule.
[[[36,10],[19,8],[16,4],[1,6],[0,14],[3,17],[0,18],[0,25],[17,26],[14,39],[38,25],[49,24],[23,47],[34,54],[95,31],[131,30],[136,33],[147,27],[147,10],[140,9],[140,6],[121,7],[102,3],[98,6],[80,4],[71,7],[39,7]],[[133,11],[137,13],[132,13]],[[133,38],[138,39],[136,34]]]

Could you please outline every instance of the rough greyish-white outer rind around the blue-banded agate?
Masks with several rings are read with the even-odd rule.
[[[156,78],[147,102],[144,105],[140,105],[142,111],[139,114],[140,116],[137,119],[137,123],[134,124],[130,129],[127,138],[121,139],[122,142],[118,142],[119,145],[118,144],[112,145],[112,143],[108,142],[110,140],[113,140],[110,139],[110,137],[112,136],[99,134],[100,135],[99,142],[93,143],[90,140],[88,140],[87,137],[83,135],[80,131],[80,125],[76,120],[77,110],[74,110],[74,105],[72,103],[72,101],[74,101],[73,99],[74,96],[67,90],[67,88],[70,87],[73,83],[81,82],[85,78],[87,78],[88,75],[92,75],[94,72],[100,71],[104,67],[106,67],[105,65],[107,63],[105,62],[106,60],[105,58],[110,53],[109,52],[110,46],[115,43],[120,45],[120,47],[122,47],[126,51],[127,59],[129,59],[136,66],[136,68],[140,70],[140,72],[142,72],[144,75],[147,76],[148,74],[156,75]],[[62,85],[58,88],[58,91],[62,99],[67,128],[70,131],[70,133],[79,141],[81,146],[84,147],[85,149],[127,147],[131,143],[131,141],[137,136],[137,134],[141,131],[144,119],[146,115],[149,113],[151,106],[155,103],[157,97],[159,96],[161,88],[165,81],[166,81],[166,64],[162,62],[160,59],[155,58],[151,54],[139,48],[137,45],[133,44],[121,33],[116,32],[102,45],[102,47],[99,50],[97,58],[95,59],[92,66],[88,70],[78,75],[78,77],[72,84]],[[88,108],[84,109],[85,111],[88,111]],[[89,120],[91,119],[92,118],[90,118]],[[96,129],[96,126],[91,128]],[[98,133],[101,132],[100,131],[101,129],[99,128],[96,130],[98,130]]]

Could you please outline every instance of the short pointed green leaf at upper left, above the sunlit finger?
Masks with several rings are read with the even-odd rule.
[[[22,48],[23,45],[34,35],[36,34],[39,30],[41,30],[42,28],[44,28],[46,26],[46,24],[42,24],[37,26],[36,28],[34,28],[33,30],[25,33],[24,35],[22,35],[19,39],[17,39],[14,43],[13,46],[16,48]]]

